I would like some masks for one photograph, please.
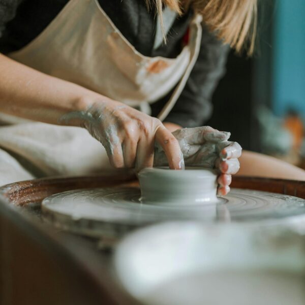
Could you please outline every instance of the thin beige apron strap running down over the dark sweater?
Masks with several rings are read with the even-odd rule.
[[[202,36],[202,27],[201,27],[201,21],[202,21],[202,16],[201,15],[197,15],[194,19],[194,23],[196,25],[196,31],[195,31],[195,46],[191,46],[191,59],[190,59],[190,63],[184,73],[184,75],[181,77],[179,83],[176,85],[176,88],[172,94],[172,96],[170,97],[170,99],[168,100],[168,102],[165,104],[165,106],[163,107],[163,109],[160,111],[160,113],[158,114],[158,118],[163,121],[167,115],[169,114],[169,112],[173,109],[174,105],[177,102],[177,99],[179,98],[179,96],[181,95],[182,90],[184,89],[190,74],[194,68],[194,65],[196,63],[196,60],[198,58],[199,55],[199,51],[200,51],[200,44],[201,44],[201,36]],[[193,32],[193,31],[192,31]],[[194,40],[194,32],[191,32],[191,42],[192,40]]]

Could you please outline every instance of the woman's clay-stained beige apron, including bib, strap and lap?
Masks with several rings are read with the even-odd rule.
[[[70,0],[31,43],[9,57],[149,113],[149,103],[174,92],[163,120],[184,88],[198,57],[201,16],[176,58],[140,54],[118,31],[98,0]],[[0,185],[47,175],[83,175],[109,168],[103,146],[86,130],[32,123],[1,115]],[[22,124],[20,124],[20,121]],[[19,124],[16,124],[19,123]]]

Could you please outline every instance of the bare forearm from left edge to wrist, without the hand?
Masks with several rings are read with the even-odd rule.
[[[59,124],[60,117],[71,111],[85,110],[90,100],[109,100],[3,54],[0,54],[0,75],[0,112],[44,123]]]

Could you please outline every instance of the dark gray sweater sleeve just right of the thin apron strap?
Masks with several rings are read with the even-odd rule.
[[[224,45],[214,34],[209,33],[204,25],[202,26],[201,47],[196,64],[184,90],[164,121],[182,127],[204,124],[212,113],[212,94],[225,73],[228,50],[228,45]],[[170,95],[165,99],[169,97]],[[151,105],[153,115],[157,115],[164,102]]]

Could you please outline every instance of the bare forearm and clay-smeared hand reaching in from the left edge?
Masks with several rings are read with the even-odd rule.
[[[79,85],[40,73],[0,54],[0,111],[50,124],[84,127],[115,167],[149,167],[154,144],[170,168],[184,166],[176,138],[160,120]]]

